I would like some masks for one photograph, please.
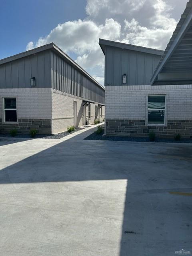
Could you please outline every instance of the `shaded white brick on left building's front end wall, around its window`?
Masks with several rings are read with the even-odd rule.
[[[4,121],[3,97],[16,97],[17,118],[51,118],[51,88],[0,89],[0,118]]]

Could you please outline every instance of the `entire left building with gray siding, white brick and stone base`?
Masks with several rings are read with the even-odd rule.
[[[42,134],[104,119],[105,89],[55,44],[0,60],[0,132]]]

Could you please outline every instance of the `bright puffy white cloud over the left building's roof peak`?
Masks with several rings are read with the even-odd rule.
[[[58,24],[48,36],[34,44],[29,42],[27,47],[38,47],[55,42],[65,52],[85,54],[98,49],[98,38],[116,40],[120,36],[121,26],[113,19],[106,19],[105,24],[97,25],[92,20],[74,20]]]

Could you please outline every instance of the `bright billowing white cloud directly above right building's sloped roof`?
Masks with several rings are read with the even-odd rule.
[[[164,50],[176,27],[176,20],[170,17],[171,8],[163,0],[157,0],[153,7],[156,12],[150,18],[151,26],[141,26],[134,18],[130,22],[124,20],[122,42]]]

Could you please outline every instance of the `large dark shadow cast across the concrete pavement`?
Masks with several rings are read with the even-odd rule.
[[[182,227],[190,220],[190,201],[168,197],[163,188],[190,184],[191,159],[165,158],[166,146],[132,145],[67,140],[2,169],[0,184],[126,179],[119,256],[174,255],[190,242],[190,232]],[[149,192],[157,188],[162,191]]]

